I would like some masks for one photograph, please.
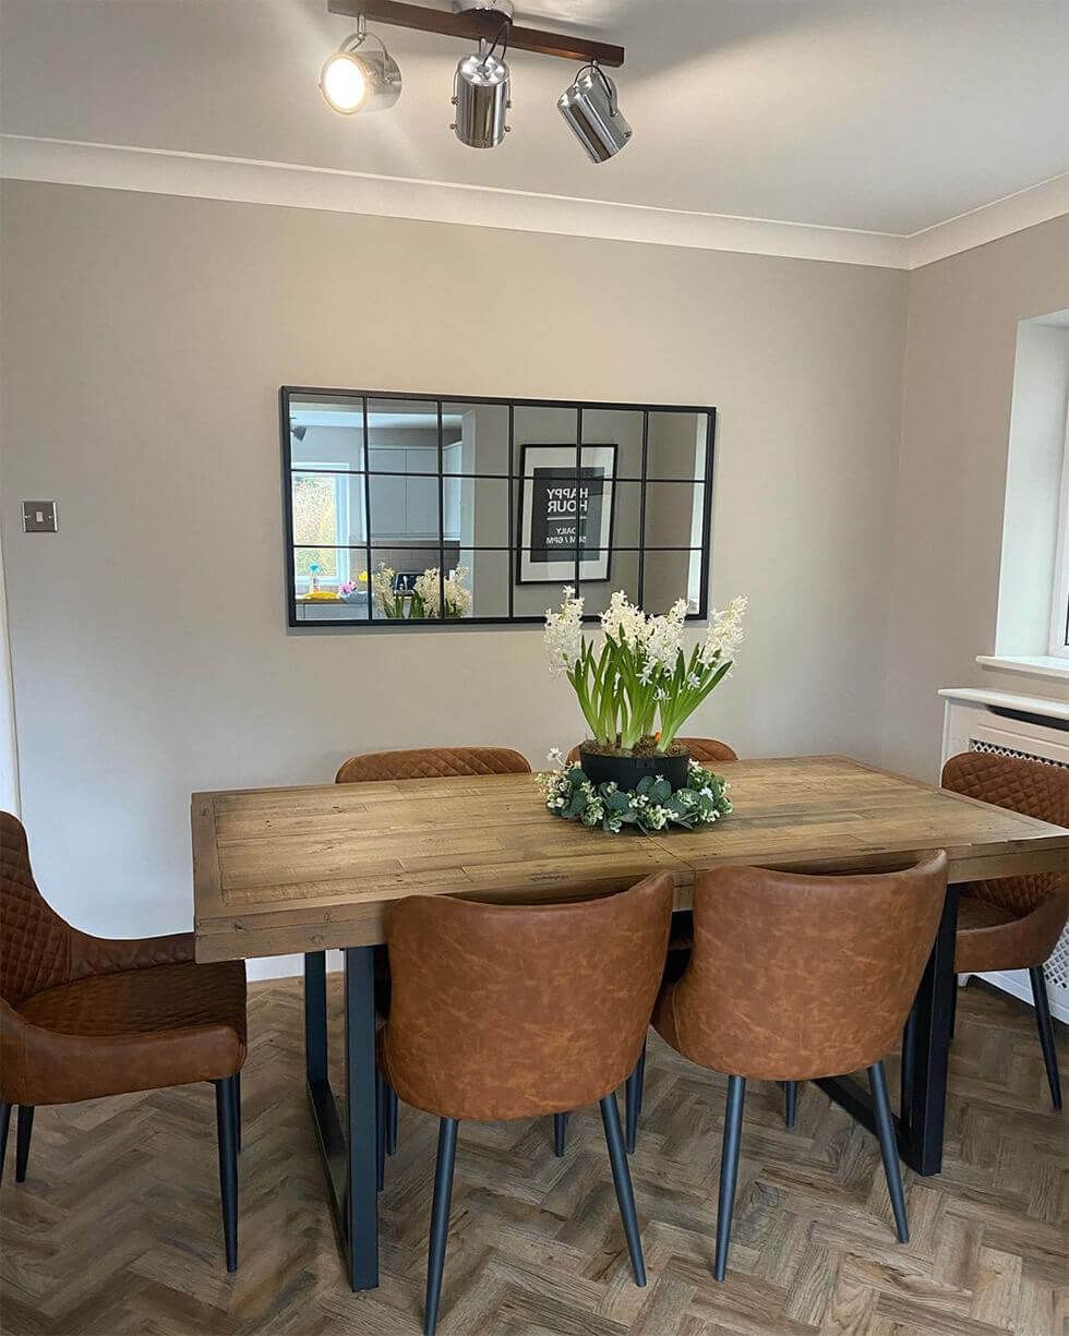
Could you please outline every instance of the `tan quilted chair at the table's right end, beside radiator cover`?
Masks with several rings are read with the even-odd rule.
[[[962,752],[943,766],[942,786],[1054,826],[1069,826],[1069,767],[1065,766],[990,752]],[[961,888],[954,969],[958,974],[1028,970],[1056,1109],[1061,1109],[1061,1081],[1044,963],[1068,918],[1069,872],[1005,876],[970,882]]]

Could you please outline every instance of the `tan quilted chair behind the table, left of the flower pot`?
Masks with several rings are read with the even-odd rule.
[[[362,752],[343,762],[335,784],[374,784],[405,779],[465,779],[472,775],[529,775],[530,763],[510,747],[413,747],[402,751]],[[375,1009],[390,1009],[390,969],[385,947],[375,947]],[[382,1189],[384,1154],[397,1150],[397,1094],[379,1082],[378,1186]],[[557,1142],[563,1137],[557,1130]],[[563,1153],[559,1149],[559,1153]]]

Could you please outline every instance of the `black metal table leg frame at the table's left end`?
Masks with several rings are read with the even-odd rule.
[[[345,951],[345,1082],[342,1124],[327,1070],[326,954],[305,955],[305,1070],[327,1201],[353,1289],[378,1285],[375,1190],[375,1011],[370,946]]]

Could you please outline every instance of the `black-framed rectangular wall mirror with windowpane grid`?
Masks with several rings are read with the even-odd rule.
[[[291,627],[708,612],[715,410],[283,387]]]

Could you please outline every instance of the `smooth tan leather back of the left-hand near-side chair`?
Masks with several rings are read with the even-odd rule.
[[[396,900],[386,1079],[440,1118],[529,1118],[600,1100],[639,1059],[672,894],[660,872],[565,904]]]

